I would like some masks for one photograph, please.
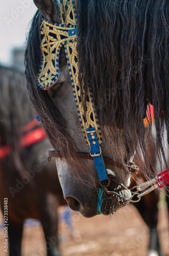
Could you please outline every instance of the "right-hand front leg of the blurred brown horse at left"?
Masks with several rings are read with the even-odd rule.
[[[45,234],[47,256],[61,256],[58,241],[58,206],[57,196],[47,193],[40,200],[40,221]]]

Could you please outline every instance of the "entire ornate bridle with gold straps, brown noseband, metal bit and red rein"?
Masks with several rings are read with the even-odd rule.
[[[83,136],[87,143],[89,153],[77,153],[80,158],[93,159],[97,169],[97,174],[99,177],[99,183],[101,187],[98,193],[102,196],[103,190],[107,194],[116,195],[120,199],[120,203],[124,204],[122,196],[115,191],[109,191],[107,187],[110,185],[110,181],[114,181],[118,185],[122,186],[124,189],[128,189],[123,184],[119,183],[112,177],[108,177],[106,173],[105,163],[116,166],[124,170],[128,170],[131,173],[137,173],[138,167],[134,163],[129,163],[128,165],[123,165],[111,159],[103,158],[101,147],[103,147],[103,140],[100,130],[99,119],[94,106],[92,91],[88,85],[87,92],[78,86],[78,55],[76,50],[77,45],[77,15],[74,5],[74,1],[58,0],[58,7],[60,13],[63,12],[63,8],[67,10],[67,15],[60,15],[61,24],[50,24],[46,19],[41,20],[41,50],[42,50],[42,63],[37,76],[37,85],[40,90],[47,90],[51,88],[58,80],[59,72],[59,54],[62,46],[65,47],[65,53],[67,58],[67,63],[69,67],[69,73],[72,82],[73,94],[76,103],[76,108],[79,116],[79,121]],[[55,59],[53,60],[53,56]],[[88,101],[86,102],[86,111],[80,100],[81,96],[87,94]],[[84,120],[83,116],[86,113],[86,118]],[[92,116],[92,117],[91,117]],[[49,161],[51,157],[59,157],[57,151],[49,151]],[[132,193],[132,197],[129,199],[130,202],[138,202],[140,198],[157,187],[162,186],[161,181],[164,183],[169,182],[169,173],[167,170],[164,173],[158,175],[158,178],[154,178],[147,181],[141,185],[131,188],[131,191],[135,188],[136,191]],[[155,184],[154,184],[155,183]],[[163,183],[163,184],[164,184]],[[154,184],[154,185],[153,185]],[[145,190],[151,186],[149,189]],[[145,190],[143,193],[141,191]],[[101,192],[100,192],[101,191]],[[133,197],[137,196],[138,200],[134,201]],[[99,212],[100,213],[100,212]]]

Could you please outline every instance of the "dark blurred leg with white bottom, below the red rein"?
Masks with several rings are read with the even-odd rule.
[[[152,191],[149,195],[146,195],[136,204],[140,215],[146,222],[150,231],[150,242],[147,256],[162,256],[160,241],[157,231],[158,223],[158,208],[157,203],[159,200],[159,191]]]

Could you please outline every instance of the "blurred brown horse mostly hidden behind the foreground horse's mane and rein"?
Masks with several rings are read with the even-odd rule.
[[[146,128],[147,130],[147,136],[149,133],[148,127]],[[158,157],[155,153],[155,144],[154,144],[154,138],[149,134],[147,137],[147,150],[149,153],[149,161],[150,161],[150,168],[152,172],[152,176],[155,177],[160,170],[160,164],[158,161]],[[168,150],[165,152],[166,157],[169,157],[169,152]],[[138,184],[144,183],[146,180],[145,176],[141,171],[138,172],[135,177],[132,177],[131,179],[131,184],[130,187],[136,186]],[[166,194],[168,196],[168,191],[166,191]],[[138,198],[135,197],[135,200]],[[134,206],[137,208],[139,211],[139,214],[142,216],[143,220],[145,223],[148,225],[149,228],[149,233],[150,233],[150,241],[149,241],[149,247],[147,251],[147,256],[162,256],[162,251],[161,251],[161,246],[160,246],[160,239],[159,239],[159,234],[158,234],[158,203],[160,199],[160,191],[159,190],[154,190],[150,194],[145,195],[142,197],[142,199],[137,202],[133,203]],[[167,199],[168,201],[168,199]],[[168,207],[168,214],[169,214],[169,205],[167,202],[167,207]]]

